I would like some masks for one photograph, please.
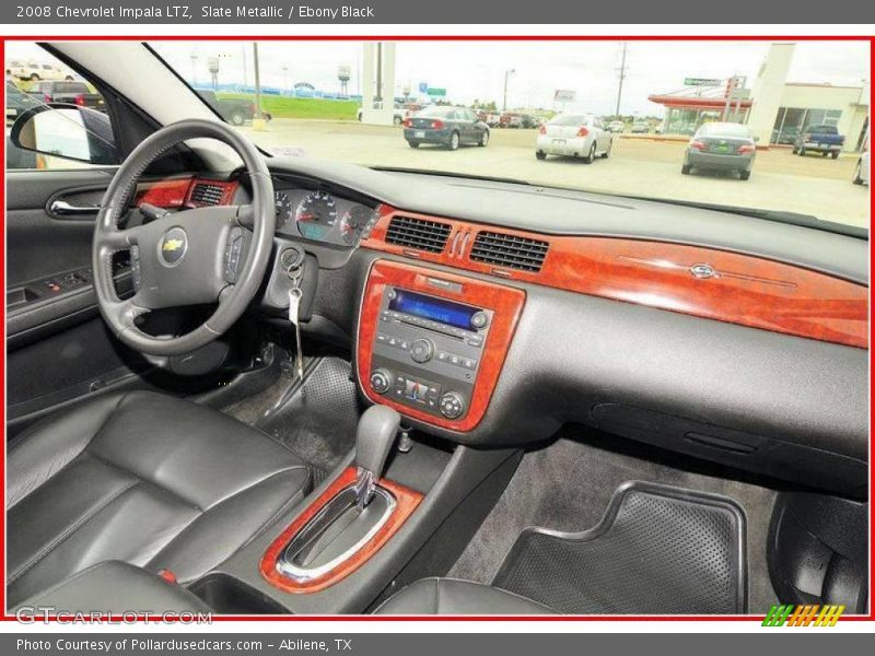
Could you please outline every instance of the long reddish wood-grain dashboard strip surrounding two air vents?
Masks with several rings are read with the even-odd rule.
[[[386,231],[396,214],[450,224],[452,232],[444,250],[412,251],[387,244]],[[481,231],[549,242],[540,272],[470,260],[470,247]],[[544,235],[385,206],[362,246],[509,280],[868,348],[866,285],[755,256],[666,242]],[[715,274],[708,279],[692,276],[690,267],[700,263],[712,267]]]

